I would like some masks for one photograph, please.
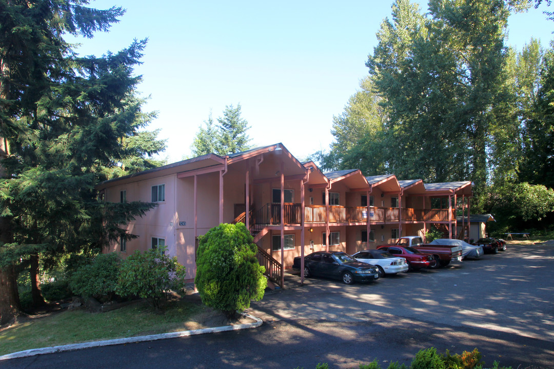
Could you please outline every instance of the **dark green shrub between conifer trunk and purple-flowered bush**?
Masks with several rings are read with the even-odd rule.
[[[115,252],[97,255],[91,264],[86,264],[71,274],[69,288],[83,297],[111,299],[117,287],[121,258]]]

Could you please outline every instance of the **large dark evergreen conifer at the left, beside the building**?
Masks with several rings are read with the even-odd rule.
[[[146,40],[79,57],[65,34],[91,38],[124,14],[87,4],[0,0],[0,279],[8,281],[0,284],[0,323],[19,308],[18,269],[30,264],[34,302],[41,303],[39,256],[131,237],[118,225],[152,207],[106,204],[94,190],[106,168],[132,151],[123,142],[140,136],[140,77],[132,72]]]

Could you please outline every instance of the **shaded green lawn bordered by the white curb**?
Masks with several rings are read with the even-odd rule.
[[[39,347],[188,330],[189,322],[207,309],[178,300],[156,311],[141,301],[106,313],[73,310],[25,319],[0,331],[0,356]]]

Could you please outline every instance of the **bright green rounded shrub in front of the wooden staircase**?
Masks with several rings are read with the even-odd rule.
[[[228,317],[261,300],[267,287],[257,246],[242,223],[220,224],[200,238],[194,282],[202,302]]]

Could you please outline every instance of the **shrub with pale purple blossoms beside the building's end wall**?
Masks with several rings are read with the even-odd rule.
[[[159,309],[168,291],[184,288],[185,273],[177,257],[165,254],[165,248],[135,251],[121,265],[116,292],[145,298]]]

